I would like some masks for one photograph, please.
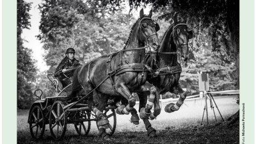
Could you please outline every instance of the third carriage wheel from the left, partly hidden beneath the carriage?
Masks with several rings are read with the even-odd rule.
[[[90,111],[79,111],[79,113],[77,114],[78,114],[77,118],[79,118],[80,120],[90,120],[90,116],[91,116]],[[86,136],[89,133],[91,128],[91,121],[88,121],[88,122],[79,121],[75,123],[74,126],[79,136]]]

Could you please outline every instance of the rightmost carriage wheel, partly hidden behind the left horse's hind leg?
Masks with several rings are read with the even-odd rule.
[[[108,120],[109,120],[109,129],[106,129],[106,132],[112,136],[116,130],[116,112],[115,109],[108,109],[108,110],[104,110],[103,111],[104,115],[107,116]],[[97,127],[98,127],[98,122],[97,123]],[[99,127],[98,127],[99,129]]]

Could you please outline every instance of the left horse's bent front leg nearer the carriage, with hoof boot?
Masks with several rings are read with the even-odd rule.
[[[124,107],[124,105],[120,106],[120,108],[118,108],[118,113],[121,114],[126,114],[128,115],[129,113],[131,113],[132,117],[131,117],[131,122],[133,124],[138,125],[139,124],[139,116],[137,114],[136,109],[134,109],[133,107],[136,104],[136,95],[132,95],[130,90],[127,88],[127,86],[124,83],[120,83],[118,85],[116,85],[116,91],[118,93],[120,93],[123,97],[125,97],[125,99],[128,100],[128,104],[126,107]]]

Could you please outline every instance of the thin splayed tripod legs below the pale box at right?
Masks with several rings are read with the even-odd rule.
[[[213,106],[212,100],[213,100],[213,102],[214,102],[214,104],[215,104],[216,108],[218,109],[219,113],[220,113],[220,110],[219,110],[219,108],[218,108],[218,106],[217,106],[217,104],[216,104],[215,100],[213,99],[213,97],[212,97],[211,93],[209,93],[209,95],[210,95],[210,96],[209,96],[209,99],[210,99],[211,109],[213,110],[214,118],[215,118],[215,120],[216,120],[216,122],[217,122],[217,118],[216,118],[216,115],[215,115],[215,111],[214,111],[214,106]],[[204,106],[204,111],[206,110],[206,118],[207,118],[207,125],[208,125],[208,124],[209,124],[209,120],[208,120],[207,92],[206,92],[206,91],[204,92],[204,96],[205,96],[205,106]],[[222,120],[223,120],[223,122],[224,122],[224,119],[223,119],[223,117],[222,117],[221,113],[220,113],[220,116],[221,116],[221,119],[222,119]],[[204,113],[203,113],[203,116],[202,116],[202,122],[201,122],[201,125],[203,124],[203,120],[204,120]]]

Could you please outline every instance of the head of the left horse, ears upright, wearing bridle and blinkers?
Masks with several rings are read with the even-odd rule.
[[[140,20],[138,23],[138,40],[150,47],[150,51],[157,51],[160,46],[157,31],[159,31],[159,25],[151,19],[152,10],[149,15],[144,15],[143,9],[140,10]]]

